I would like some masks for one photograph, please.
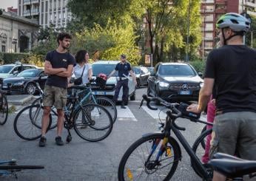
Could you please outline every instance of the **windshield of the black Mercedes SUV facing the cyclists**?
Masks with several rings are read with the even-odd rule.
[[[195,76],[195,71],[189,65],[163,65],[159,69],[160,75]]]

